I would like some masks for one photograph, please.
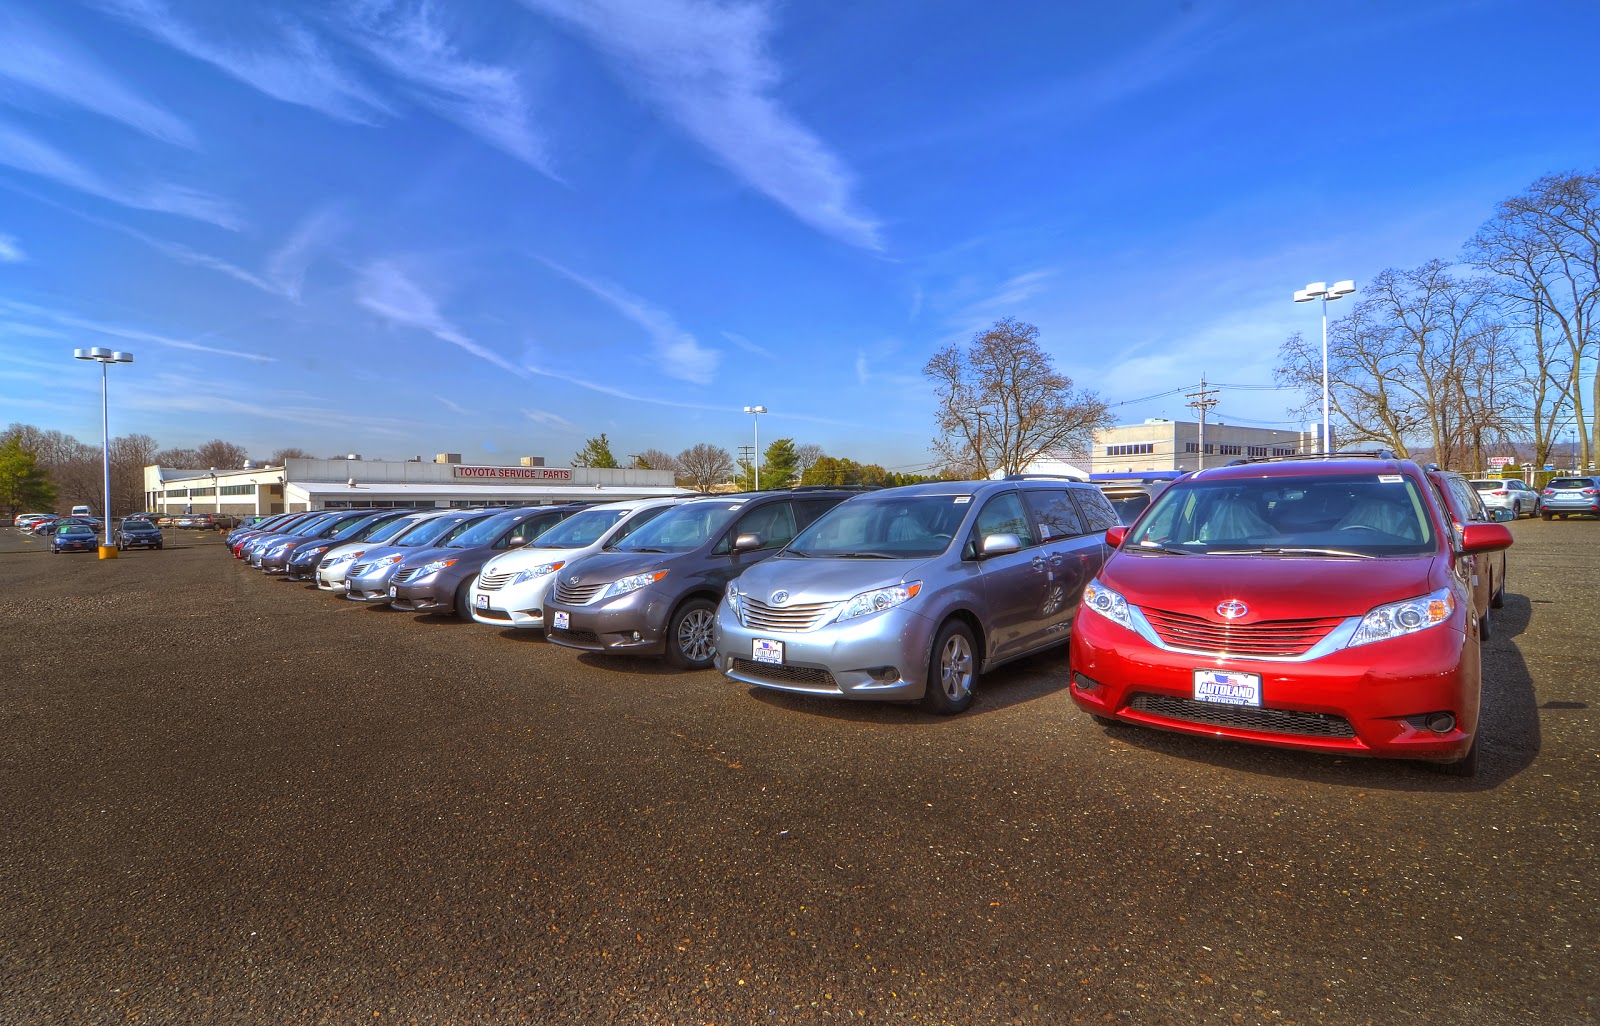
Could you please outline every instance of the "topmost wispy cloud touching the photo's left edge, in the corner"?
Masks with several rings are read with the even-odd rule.
[[[122,122],[154,139],[195,146],[195,134],[182,118],[117,82],[93,56],[14,6],[0,10],[0,40],[5,40],[0,80]]]

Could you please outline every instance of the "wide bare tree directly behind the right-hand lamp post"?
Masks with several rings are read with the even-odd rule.
[[[1400,455],[1421,445],[1442,466],[1478,466],[1485,439],[1509,434],[1518,403],[1506,328],[1482,279],[1443,261],[1384,271],[1349,317],[1328,325],[1328,403],[1349,440]],[[1299,333],[1277,378],[1301,389],[1302,415],[1322,402],[1322,349]]]

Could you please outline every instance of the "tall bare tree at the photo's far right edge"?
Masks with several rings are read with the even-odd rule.
[[[1466,254],[1496,275],[1504,306],[1531,335],[1523,349],[1541,379],[1530,410],[1538,458],[1549,458],[1571,410],[1587,466],[1600,445],[1600,370],[1584,381],[1600,347],[1600,171],[1533,182],[1496,208]]]

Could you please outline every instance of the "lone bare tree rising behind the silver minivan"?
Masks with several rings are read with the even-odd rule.
[[[923,375],[939,397],[933,453],[974,477],[1016,474],[1042,453],[1088,448],[1110,424],[1099,395],[1075,391],[1038,346],[1038,328],[1006,317],[963,349],[936,352]]]

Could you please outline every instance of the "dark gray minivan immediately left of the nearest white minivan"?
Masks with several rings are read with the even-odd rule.
[[[389,581],[389,608],[470,619],[469,591],[483,563],[528,544],[579,509],[584,504],[507,509],[474,523],[437,549],[405,557]]]

